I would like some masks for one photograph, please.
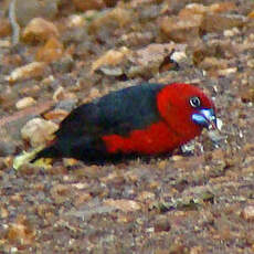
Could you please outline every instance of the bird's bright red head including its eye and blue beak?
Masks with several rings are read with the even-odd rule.
[[[187,141],[200,135],[203,127],[216,127],[213,102],[193,85],[166,85],[157,98],[159,113],[169,128]]]

